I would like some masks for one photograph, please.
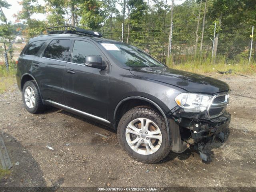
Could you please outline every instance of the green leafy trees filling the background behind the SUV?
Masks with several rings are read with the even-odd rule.
[[[0,0],[1,36],[22,28],[36,36],[49,26],[72,25],[102,32],[105,38],[123,40],[143,48],[162,62],[171,56],[206,59],[211,53],[216,23],[214,57],[248,56],[251,27],[256,24],[255,0],[21,0],[16,24],[8,22]],[[38,20],[34,14],[46,14]],[[122,32],[122,25],[124,26]],[[123,33],[123,36],[122,36]],[[123,38],[123,39],[122,39]],[[172,39],[172,46],[170,42]],[[219,40],[224,40],[223,48]],[[256,47],[254,46],[254,60]]]

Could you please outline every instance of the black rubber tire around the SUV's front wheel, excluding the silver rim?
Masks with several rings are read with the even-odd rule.
[[[160,145],[160,148],[156,152],[149,155],[139,154],[136,151],[132,150],[132,148],[130,148],[129,144],[127,143],[125,136],[126,127],[132,120],[135,120],[136,118],[150,119],[158,126],[158,128],[160,128],[162,134],[162,143]],[[163,116],[159,114],[156,110],[151,109],[147,106],[138,106],[126,112],[118,123],[117,135],[119,144],[122,146],[122,148],[130,156],[132,156],[132,158],[140,162],[148,164],[156,163],[163,160],[170,153],[171,141],[168,141],[168,132],[165,120]]]

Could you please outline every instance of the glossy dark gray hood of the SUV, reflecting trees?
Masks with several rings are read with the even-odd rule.
[[[140,78],[164,82],[188,92],[215,94],[230,89],[228,84],[223,81],[171,68],[130,68],[130,72]]]

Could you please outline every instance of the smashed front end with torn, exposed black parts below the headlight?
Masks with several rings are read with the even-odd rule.
[[[226,109],[226,108],[225,108]],[[230,123],[231,115],[223,110],[215,118],[209,118],[208,112],[185,112],[179,106],[168,114],[169,127],[172,138],[172,151],[182,153],[191,146],[200,154],[202,160],[209,162],[213,152],[206,149],[206,144],[219,138],[224,142],[224,130]]]

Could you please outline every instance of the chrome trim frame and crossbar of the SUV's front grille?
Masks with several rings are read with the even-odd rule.
[[[214,103],[214,100],[215,98],[218,98],[218,97],[221,97],[221,96],[225,96],[225,100],[223,102],[217,102],[217,103]],[[226,110],[227,106],[228,106],[228,103],[229,103],[229,94],[218,94],[218,95],[214,95],[212,97],[212,100],[211,100],[211,103],[209,104],[208,108],[207,108],[207,115],[210,119],[212,118],[216,118],[220,115],[223,114],[223,112]],[[217,108],[223,108],[223,110],[219,113],[219,114],[216,114],[216,115],[213,115],[213,116],[210,116],[210,109],[217,109]]]

